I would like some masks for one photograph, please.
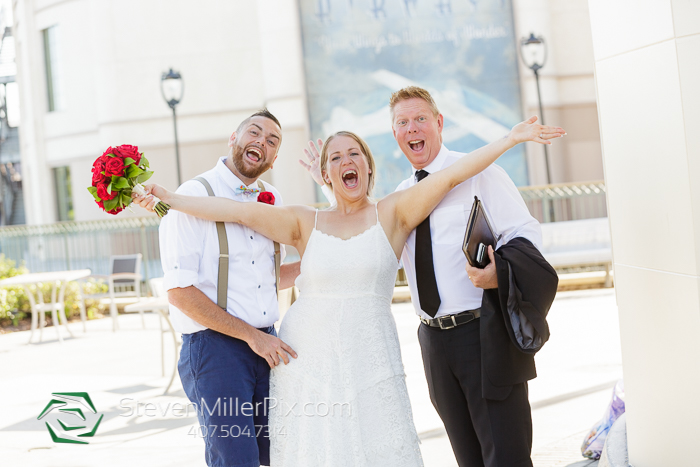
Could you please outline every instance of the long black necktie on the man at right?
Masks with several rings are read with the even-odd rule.
[[[421,181],[430,175],[425,170],[416,172],[416,180]],[[430,238],[430,216],[416,227],[416,282],[418,301],[423,311],[434,318],[440,308],[440,293],[435,280],[433,266],[433,242]]]

